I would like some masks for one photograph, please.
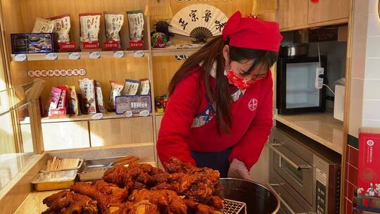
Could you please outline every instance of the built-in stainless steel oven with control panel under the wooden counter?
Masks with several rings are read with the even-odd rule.
[[[277,122],[272,132],[270,186],[280,213],[339,213],[341,156]]]

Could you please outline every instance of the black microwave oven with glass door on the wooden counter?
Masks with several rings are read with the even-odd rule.
[[[324,73],[317,73],[317,68]],[[277,61],[277,113],[324,112],[327,83],[327,57],[279,58]]]

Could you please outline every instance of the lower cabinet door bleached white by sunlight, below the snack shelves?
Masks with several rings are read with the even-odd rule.
[[[42,136],[45,151],[90,146],[87,121],[42,123]]]

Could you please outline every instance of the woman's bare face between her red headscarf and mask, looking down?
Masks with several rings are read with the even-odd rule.
[[[225,65],[224,68],[227,72],[232,69],[236,75],[243,77],[246,80],[257,80],[265,77],[267,75],[268,70],[263,68],[264,66],[256,66],[256,68],[252,71],[249,69],[253,64],[253,60],[243,60],[243,61],[230,61],[229,59],[229,46],[225,45],[223,49],[223,56]]]

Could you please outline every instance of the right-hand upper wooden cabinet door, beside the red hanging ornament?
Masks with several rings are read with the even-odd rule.
[[[308,2],[308,24],[348,18],[350,13],[348,0],[320,0],[318,4]]]

